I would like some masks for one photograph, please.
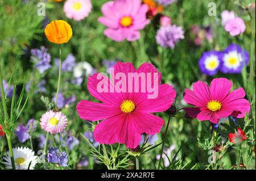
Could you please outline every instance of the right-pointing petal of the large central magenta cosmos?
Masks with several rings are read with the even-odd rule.
[[[172,103],[176,97],[176,91],[172,86],[163,84],[158,87],[158,97],[156,99],[144,99],[140,95],[137,95],[134,99],[136,107],[139,111],[143,112],[162,112],[168,110],[172,106]]]

